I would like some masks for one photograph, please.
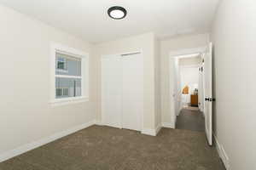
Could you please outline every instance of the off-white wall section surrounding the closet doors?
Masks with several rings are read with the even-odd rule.
[[[143,128],[155,128],[155,58],[154,58],[154,34],[119,39],[113,42],[96,44],[97,67],[101,69],[101,57],[107,54],[124,54],[136,51],[143,52],[144,59],[144,113]],[[97,120],[101,122],[101,71],[97,74]]]

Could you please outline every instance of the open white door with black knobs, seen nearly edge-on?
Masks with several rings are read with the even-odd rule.
[[[212,43],[204,58],[205,71],[205,124],[208,144],[212,145]]]

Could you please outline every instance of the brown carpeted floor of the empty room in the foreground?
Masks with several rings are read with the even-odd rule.
[[[157,137],[92,126],[0,163],[1,170],[224,170],[204,133],[162,128]]]

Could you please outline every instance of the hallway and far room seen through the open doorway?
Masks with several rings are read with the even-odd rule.
[[[205,131],[204,119],[204,54],[185,54],[174,57],[176,62],[171,63],[176,72],[170,77],[174,82],[171,101],[175,107],[177,129]]]

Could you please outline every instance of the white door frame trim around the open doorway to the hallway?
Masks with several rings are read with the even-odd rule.
[[[183,49],[179,49],[179,50],[171,50],[169,52],[169,101],[168,103],[169,104],[172,104],[173,102],[173,94],[172,94],[172,87],[171,87],[171,84],[172,82],[174,82],[174,77],[171,77],[171,63],[172,63],[172,59],[173,58],[178,58],[178,57],[181,57],[183,55],[189,55],[189,54],[202,54],[202,53],[206,53],[207,51],[207,46],[202,46],[202,47],[199,47],[199,48],[183,48]],[[172,104],[172,105],[175,105],[175,104]],[[170,108],[170,114],[171,114],[171,118],[174,119],[174,120],[171,120],[171,126],[173,128],[175,128],[175,125],[176,125],[176,112],[172,111],[172,108]]]

